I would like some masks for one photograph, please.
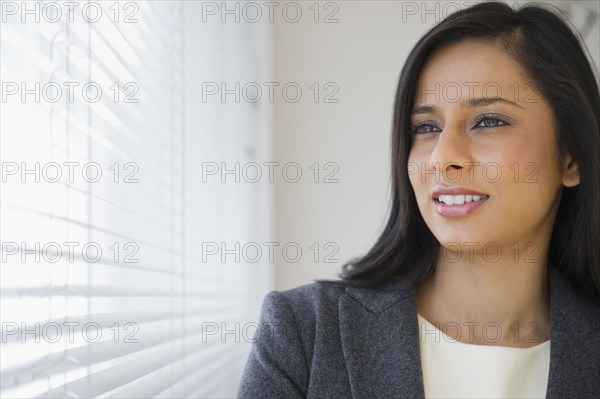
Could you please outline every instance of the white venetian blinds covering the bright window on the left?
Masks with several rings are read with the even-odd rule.
[[[200,88],[267,32],[201,6],[2,4],[2,397],[235,395],[271,269],[202,244],[269,241],[270,189],[202,168],[268,156],[269,114]]]

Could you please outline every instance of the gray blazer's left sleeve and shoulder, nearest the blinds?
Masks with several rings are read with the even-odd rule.
[[[333,322],[336,298],[343,291],[336,284],[315,282],[267,293],[239,398],[308,396],[317,326],[328,315]]]

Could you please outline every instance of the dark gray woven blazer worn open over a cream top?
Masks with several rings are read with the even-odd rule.
[[[553,267],[547,398],[600,398],[600,306]],[[238,398],[423,398],[413,284],[270,292]]]

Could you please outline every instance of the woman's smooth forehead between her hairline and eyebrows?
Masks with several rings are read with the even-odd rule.
[[[467,39],[436,50],[419,76],[415,102],[424,102],[439,91],[446,97],[513,97],[519,102],[523,89],[532,87],[523,68],[499,43]],[[516,97],[516,98],[515,98]]]

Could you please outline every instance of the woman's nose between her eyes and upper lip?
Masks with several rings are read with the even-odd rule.
[[[472,166],[469,140],[458,127],[445,126],[429,157],[429,168],[436,172],[437,182],[457,182],[464,169]],[[442,179],[439,178],[441,174]]]

